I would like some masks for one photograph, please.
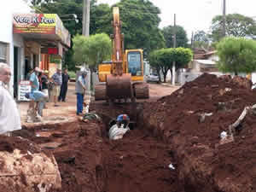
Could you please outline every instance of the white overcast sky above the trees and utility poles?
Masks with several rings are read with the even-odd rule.
[[[176,14],[177,25],[183,26],[191,38],[197,30],[209,31],[212,18],[221,15],[223,0],[150,0],[160,8],[160,27],[173,25]],[[112,5],[119,0],[98,0],[98,3]],[[238,13],[250,17],[256,16],[256,0],[226,0],[227,14]],[[255,18],[256,19],[256,18]]]

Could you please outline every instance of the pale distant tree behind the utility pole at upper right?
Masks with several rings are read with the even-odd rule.
[[[256,23],[253,18],[240,15],[230,14],[226,16],[226,32],[232,37],[253,37],[256,34]],[[219,41],[223,37],[223,16],[217,15],[212,19],[212,38]]]

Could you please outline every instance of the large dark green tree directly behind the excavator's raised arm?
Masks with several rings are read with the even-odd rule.
[[[158,7],[148,0],[122,0],[113,6],[119,7],[125,49],[143,49],[148,55],[151,50],[164,47]]]

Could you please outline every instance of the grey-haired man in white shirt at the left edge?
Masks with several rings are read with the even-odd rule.
[[[20,113],[15,100],[7,90],[10,77],[9,66],[0,62],[0,134],[6,135],[21,129]]]

